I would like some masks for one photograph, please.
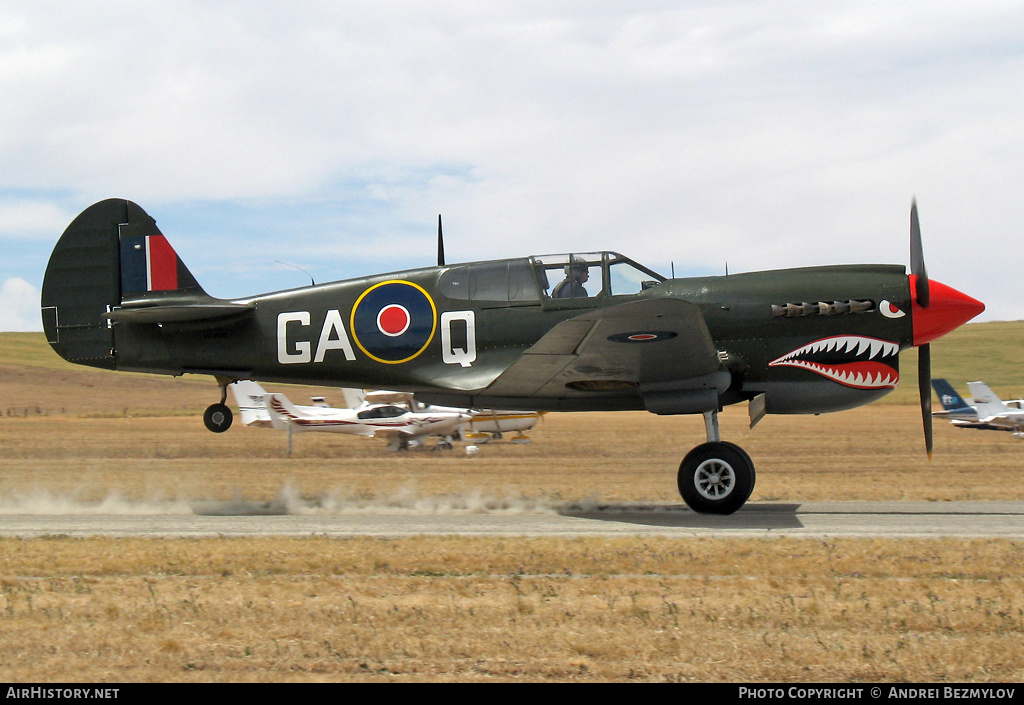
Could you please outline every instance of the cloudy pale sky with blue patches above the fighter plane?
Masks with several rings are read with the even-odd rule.
[[[1024,319],[1024,4],[0,7],[0,330],[127,198],[241,297],[610,249],[677,275],[907,263]],[[287,262],[285,264],[283,262]]]

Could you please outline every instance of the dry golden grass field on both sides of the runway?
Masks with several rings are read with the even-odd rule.
[[[973,341],[991,334],[968,329]],[[287,457],[282,433],[206,431],[209,380],[75,368],[31,334],[0,335],[0,511],[283,494],[422,511],[678,502],[674,468],[703,440],[692,417],[549,414],[531,444],[489,444],[475,457],[388,454],[326,433],[296,436]],[[949,358],[965,363],[963,352]],[[936,375],[957,386],[985,378],[938,362]],[[997,391],[1018,383],[1004,379],[986,381]],[[295,401],[309,392],[268,386]],[[920,411],[905,403],[769,417],[753,430],[735,408],[722,425],[757,463],[755,502],[1024,499],[1024,442],[939,423],[929,462]],[[1022,548],[683,536],[0,539],[0,679],[1016,681]]]

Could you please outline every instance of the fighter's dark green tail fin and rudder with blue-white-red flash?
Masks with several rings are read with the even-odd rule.
[[[103,315],[125,301],[182,295],[209,298],[157,221],[131,201],[100,201],[53,248],[43,278],[43,330],[65,360],[115,369],[115,326]]]

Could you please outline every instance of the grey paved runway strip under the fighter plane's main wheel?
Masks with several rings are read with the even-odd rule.
[[[730,516],[615,503],[468,509],[204,502],[166,510],[0,513],[0,536],[719,536],[1024,539],[1024,502],[754,502]]]

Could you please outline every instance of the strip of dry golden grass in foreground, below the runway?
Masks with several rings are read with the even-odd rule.
[[[1020,546],[0,540],[11,681],[1019,681]]]

